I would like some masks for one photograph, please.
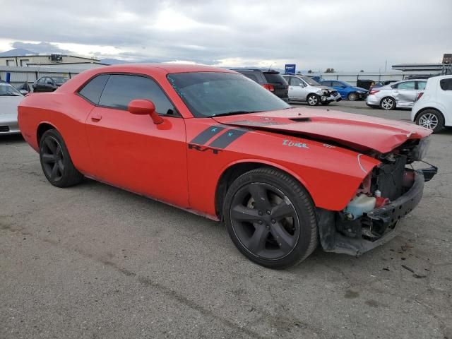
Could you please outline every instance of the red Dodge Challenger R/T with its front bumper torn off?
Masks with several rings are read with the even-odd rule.
[[[390,239],[436,167],[431,131],[293,108],[234,71],[129,64],[84,71],[18,107],[57,187],[83,177],[225,222],[251,261],[284,268],[320,242],[359,255]]]

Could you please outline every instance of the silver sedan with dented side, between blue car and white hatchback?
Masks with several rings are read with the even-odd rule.
[[[404,80],[379,88],[372,88],[366,98],[369,107],[382,109],[411,108],[415,105],[417,94],[424,90],[425,80]]]

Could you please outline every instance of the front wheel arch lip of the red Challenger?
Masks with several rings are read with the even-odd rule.
[[[252,169],[260,168],[260,167],[271,167],[274,169],[278,169],[285,174],[290,175],[290,177],[294,178],[299,184],[301,184],[304,189],[306,189],[311,201],[314,203],[314,199],[309,192],[309,187],[306,182],[299,177],[299,175],[292,172],[290,169],[287,169],[283,166],[275,164],[273,162],[266,162],[263,160],[239,160],[237,162],[233,162],[228,165],[220,175],[220,179],[218,179],[217,186],[215,188],[215,214],[218,216],[220,220],[222,220],[222,205],[225,200],[225,195],[227,193],[227,189],[229,189],[230,184],[234,182],[235,179],[240,177],[242,174],[251,171]],[[314,203],[315,205],[315,203]]]

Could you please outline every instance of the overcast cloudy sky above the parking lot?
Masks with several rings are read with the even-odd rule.
[[[451,0],[0,0],[0,52],[378,71],[452,53]]]

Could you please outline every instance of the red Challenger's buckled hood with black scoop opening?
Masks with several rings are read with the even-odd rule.
[[[322,141],[335,141],[357,150],[376,150],[381,153],[390,152],[408,139],[424,138],[432,133],[429,129],[408,122],[306,108],[213,119],[220,124],[297,133]]]

